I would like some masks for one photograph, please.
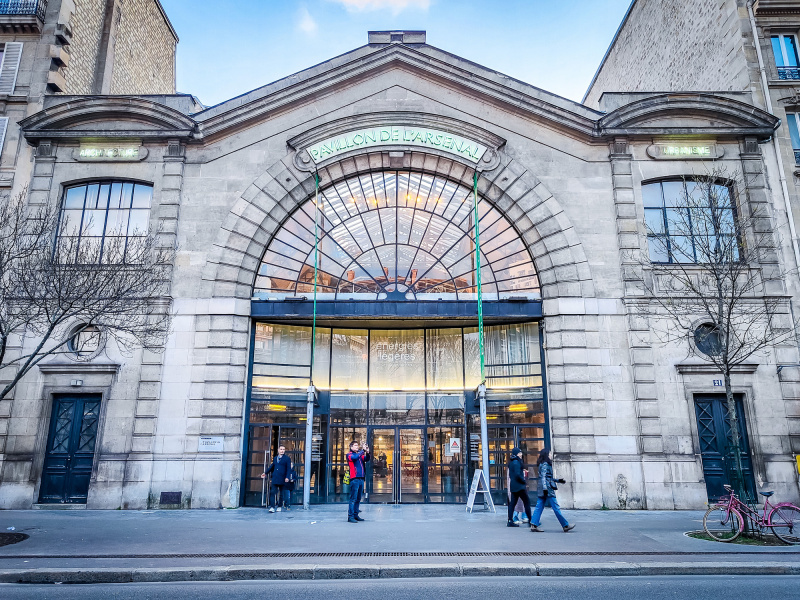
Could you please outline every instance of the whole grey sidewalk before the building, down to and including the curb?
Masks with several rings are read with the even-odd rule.
[[[687,537],[702,529],[702,511],[566,511],[577,527],[564,534],[549,510],[545,531],[531,533],[506,527],[504,509],[468,514],[459,505],[368,505],[359,524],[347,522],[341,505],[274,514],[252,508],[0,511],[0,532],[14,527],[30,536],[0,547],[0,580],[20,573],[78,581],[92,573],[98,581],[411,577],[420,569],[438,576],[635,575],[759,572],[768,565],[800,573],[798,547]]]

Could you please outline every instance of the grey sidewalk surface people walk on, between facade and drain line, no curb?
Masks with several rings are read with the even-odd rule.
[[[577,524],[564,534],[545,512],[543,533],[505,527],[497,513],[461,505],[367,505],[367,521],[346,520],[346,507],[268,513],[262,509],[161,511],[0,511],[0,531],[29,539],[0,547],[5,557],[198,558],[264,553],[359,552],[654,552],[791,553],[798,547],[754,547],[684,535],[702,528],[702,511],[565,511]],[[202,555],[202,556],[201,556]],[[292,557],[287,557],[292,558]],[[297,557],[299,558],[299,557]],[[313,559],[314,557],[309,557]],[[490,562],[497,562],[488,559]]]

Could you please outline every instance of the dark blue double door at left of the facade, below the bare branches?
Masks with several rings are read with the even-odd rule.
[[[53,398],[39,502],[86,503],[99,418],[99,395]]]

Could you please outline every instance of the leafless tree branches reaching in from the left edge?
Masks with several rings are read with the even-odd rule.
[[[101,337],[126,353],[158,350],[172,318],[175,249],[158,232],[104,223],[105,235],[90,237],[91,222],[69,223],[26,197],[0,199],[0,399],[46,357],[85,355]]]

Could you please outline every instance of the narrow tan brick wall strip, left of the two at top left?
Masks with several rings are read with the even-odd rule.
[[[69,66],[64,69],[67,94],[91,94],[97,50],[103,33],[105,0],[75,0]]]

